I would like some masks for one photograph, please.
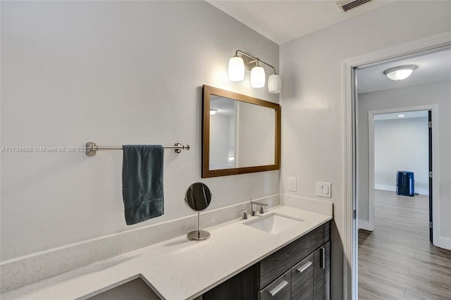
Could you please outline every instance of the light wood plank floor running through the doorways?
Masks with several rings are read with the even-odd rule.
[[[429,243],[428,196],[375,191],[359,230],[359,299],[451,299],[451,250]]]

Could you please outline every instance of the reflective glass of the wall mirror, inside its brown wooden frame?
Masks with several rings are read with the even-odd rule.
[[[210,110],[209,170],[275,163],[273,108],[211,95]]]

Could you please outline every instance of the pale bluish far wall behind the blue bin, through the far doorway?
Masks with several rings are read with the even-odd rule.
[[[414,172],[415,192],[429,194],[428,118],[374,121],[374,189],[396,191],[398,170]]]

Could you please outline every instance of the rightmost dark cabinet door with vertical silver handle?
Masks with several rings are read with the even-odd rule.
[[[314,252],[314,299],[330,299],[330,242]]]

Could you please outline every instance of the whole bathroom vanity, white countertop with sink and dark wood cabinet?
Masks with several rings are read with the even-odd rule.
[[[271,218],[275,225],[266,227]],[[130,289],[135,295],[138,288],[144,299],[328,299],[331,219],[275,206],[247,220],[208,227],[211,237],[202,242],[185,234],[12,289],[1,299],[103,294],[111,300]]]

